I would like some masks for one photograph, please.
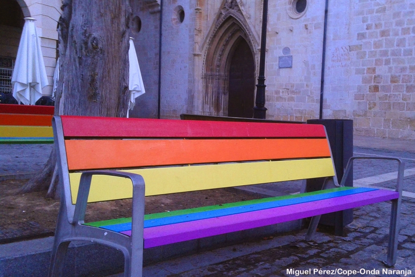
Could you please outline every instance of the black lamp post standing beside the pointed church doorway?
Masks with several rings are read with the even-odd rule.
[[[267,111],[267,108],[265,107],[265,44],[267,41],[267,14],[268,0],[264,0],[264,7],[262,9],[260,68],[257,84],[257,97],[255,98],[255,107],[253,107],[253,118],[257,119],[265,119]]]

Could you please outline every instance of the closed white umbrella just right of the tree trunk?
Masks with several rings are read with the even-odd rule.
[[[128,103],[128,110],[132,110],[135,105],[135,98],[146,93],[143,84],[143,78],[141,77],[139,60],[137,59],[137,54],[135,53],[134,42],[130,37],[130,49],[128,50],[128,59],[130,65],[129,71],[129,84],[128,88],[130,90],[130,101]],[[128,112],[127,112],[128,118]]]

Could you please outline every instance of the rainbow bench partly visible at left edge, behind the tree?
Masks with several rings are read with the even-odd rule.
[[[0,144],[53,143],[52,106],[0,105]]]

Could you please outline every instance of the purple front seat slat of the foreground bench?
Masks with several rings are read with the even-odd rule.
[[[249,228],[327,214],[399,198],[395,191],[376,190],[308,203],[144,229],[144,248],[221,235]],[[131,231],[121,232],[131,235]]]

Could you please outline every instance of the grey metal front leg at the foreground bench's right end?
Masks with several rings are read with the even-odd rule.
[[[387,266],[394,266],[396,263],[399,235],[399,218],[400,218],[401,199],[392,200],[390,209],[390,225],[389,225],[389,243],[387,247]]]

